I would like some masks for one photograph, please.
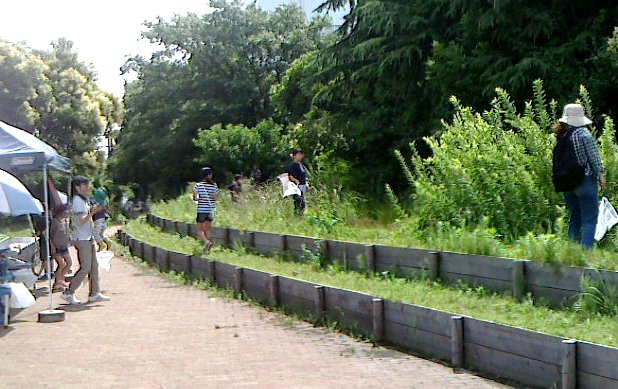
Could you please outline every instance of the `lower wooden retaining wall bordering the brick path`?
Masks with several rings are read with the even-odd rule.
[[[285,307],[316,319],[336,320],[376,342],[385,341],[442,360],[454,368],[465,367],[533,387],[618,388],[617,348],[168,252],[122,231],[119,238],[132,247],[132,252],[137,253],[135,248],[141,245],[145,259],[162,270],[189,269],[196,278],[211,280],[265,305]],[[424,269],[424,254],[415,255],[417,269]],[[446,273],[453,272],[447,269]]]

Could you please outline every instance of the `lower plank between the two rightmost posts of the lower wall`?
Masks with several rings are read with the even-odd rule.
[[[465,325],[464,325],[465,327]],[[512,379],[534,387],[559,387],[560,366],[466,342],[465,363],[471,370]]]

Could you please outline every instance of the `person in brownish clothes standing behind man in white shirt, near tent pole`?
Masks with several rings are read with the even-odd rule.
[[[54,210],[49,235],[52,253],[58,265],[55,273],[54,291],[60,292],[69,286],[65,277],[73,265],[71,253],[69,253],[69,206],[67,204],[59,205]]]

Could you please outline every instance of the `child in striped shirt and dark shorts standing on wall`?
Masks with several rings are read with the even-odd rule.
[[[201,181],[193,188],[193,201],[197,201],[197,233],[210,252],[213,242],[210,235],[212,222],[215,220],[216,203],[219,199],[219,188],[212,180],[212,169],[204,167],[200,170]]]

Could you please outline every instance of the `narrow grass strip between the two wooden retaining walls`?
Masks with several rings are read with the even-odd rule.
[[[143,220],[131,221],[125,231],[132,236],[168,250],[186,254],[203,253],[193,238],[162,232]],[[618,346],[618,320],[587,311],[554,310],[537,306],[532,300],[523,304],[508,296],[492,294],[483,288],[447,287],[428,280],[405,280],[388,274],[366,275],[344,272],[312,263],[288,262],[247,251],[230,251],[215,246],[209,258],[237,266],[262,270],[309,282],[355,290],[374,296],[416,304],[447,312],[489,320],[496,323],[540,331],[565,338],[575,338],[609,346]]]

